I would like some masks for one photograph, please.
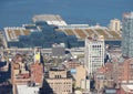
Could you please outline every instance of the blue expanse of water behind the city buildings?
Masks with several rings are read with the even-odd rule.
[[[31,23],[35,14],[60,14],[66,23],[106,25],[133,11],[133,0],[0,0],[0,29]]]

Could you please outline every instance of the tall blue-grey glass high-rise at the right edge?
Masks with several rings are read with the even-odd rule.
[[[133,12],[123,14],[122,54],[133,58]]]

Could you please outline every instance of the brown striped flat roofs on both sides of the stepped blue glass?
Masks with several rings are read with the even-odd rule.
[[[34,27],[34,25],[33,25]],[[122,31],[111,31],[105,27],[89,27],[89,25],[74,25],[55,29],[57,32],[64,32],[66,35],[75,35],[80,40],[85,40],[86,36],[96,34],[103,35],[105,41],[121,40]],[[29,35],[32,31],[30,29],[21,28],[4,28],[7,41],[19,41],[20,35]]]

